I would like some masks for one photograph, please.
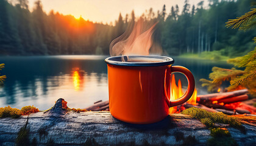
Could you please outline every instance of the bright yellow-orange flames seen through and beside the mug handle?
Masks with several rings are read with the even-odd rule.
[[[180,97],[182,97],[184,94],[184,92],[182,91],[182,83],[178,82],[178,86],[176,85],[176,81],[175,81],[175,76],[174,74],[172,75],[171,78],[171,97],[170,100],[175,100],[175,99],[179,99]],[[187,101],[187,103],[191,104],[191,105],[196,105],[196,97],[197,97],[197,90],[196,88],[194,89],[194,93],[191,96],[190,100]],[[171,107],[169,108],[169,113],[176,113],[177,112],[177,107]]]

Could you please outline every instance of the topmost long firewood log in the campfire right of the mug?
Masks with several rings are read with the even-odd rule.
[[[218,101],[218,100],[226,99],[226,98],[230,98],[230,97],[241,96],[243,94],[246,94],[247,92],[248,92],[247,89],[241,89],[241,90],[232,91],[232,92],[199,95],[199,96],[197,96],[197,101],[199,101],[199,103],[208,102],[209,100],[211,100],[211,101],[217,100]]]

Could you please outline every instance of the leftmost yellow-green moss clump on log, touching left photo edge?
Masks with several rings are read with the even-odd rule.
[[[5,106],[4,108],[0,108],[0,117],[20,117],[21,111],[17,108],[11,108],[10,106]]]

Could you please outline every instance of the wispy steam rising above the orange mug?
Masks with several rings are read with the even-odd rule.
[[[162,48],[152,39],[156,24],[150,26],[139,19],[133,28],[127,27],[126,32],[110,43],[110,55],[162,54]]]

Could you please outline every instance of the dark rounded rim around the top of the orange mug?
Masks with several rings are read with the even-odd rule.
[[[128,62],[128,61],[121,61],[122,58],[127,60],[128,58],[155,58],[158,62]],[[166,66],[174,63],[174,59],[171,57],[159,56],[159,55],[123,55],[123,56],[115,56],[115,57],[108,57],[105,59],[105,63],[117,65],[117,66]]]

